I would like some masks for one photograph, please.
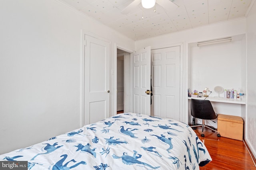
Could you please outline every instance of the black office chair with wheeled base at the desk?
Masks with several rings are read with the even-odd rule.
[[[202,119],[202,125],[192,125],[190,127],[202,127],[201,137],[204,137],[204,127],[211,129],[212,131],[218,133],[217,136],[220,137],[220,133],[214,128],[205,125],[205,120],[216,119],[218,115],[214,112],[212,104],[209,100],[196,100],[191,99],[190,101],[191,115],[198,119]]]

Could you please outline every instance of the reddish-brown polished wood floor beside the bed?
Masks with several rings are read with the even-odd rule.
[[[201,127],[194,131],[212,157],[212,161],[200,167],[200,170],[256,170],[243,141],[217,137],[217,133],[212,133],[209,129],[204,129],[205,137],[201,137]]]

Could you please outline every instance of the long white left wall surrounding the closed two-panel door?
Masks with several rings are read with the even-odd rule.
[[[56,0],[0,5],[0,153],[81,127],[81,30],[134,50],[134,41]],[[114,74],[111,85],[114,92]]]

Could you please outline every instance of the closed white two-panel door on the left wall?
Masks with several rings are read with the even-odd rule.
[[[110,116],[110,42],[85,35],[84,124]]]

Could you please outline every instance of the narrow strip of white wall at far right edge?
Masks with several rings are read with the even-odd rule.
[[[247,26],[247,112],[246,142],[256,157],[256,2],[246,18]]]

